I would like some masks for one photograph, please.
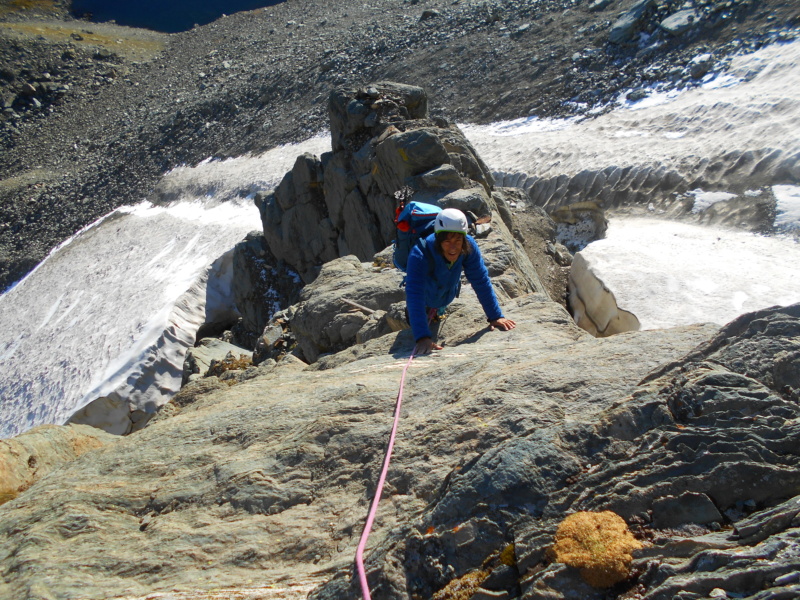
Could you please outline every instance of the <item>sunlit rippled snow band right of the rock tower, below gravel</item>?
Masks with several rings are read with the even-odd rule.
[[[537,206],[645,204],[678,189],[800,180],[800,41],[736,57],[729,72],[594,119],[465,126],[499,185]],[[524,141],[523,141],[524,140]]]

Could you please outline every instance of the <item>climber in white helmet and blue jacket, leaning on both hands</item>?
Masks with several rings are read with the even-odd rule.
[[[429,319],[441,317],[461,289],[461,273],[467,276],[486,313],[489,329],[508,331],[516,323],[503,316],[481,251],[467,235],[467,217],[458,209],[446,208],[436,217],[434,233],[411,250],[406,277],[406,308],[416,340],[416,354],[441,350],[433,341]]]

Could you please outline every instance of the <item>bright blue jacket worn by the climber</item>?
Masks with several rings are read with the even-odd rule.
[[[411,249],[406,266],[406,308],[415,340],[431,337],[425,308],[450,304],[458,294],[462,272],[478,295],[487,319],[494,321],[503,317],[478,244],[471,236],[466,238],[472,251],[467,256],[459,256],[452,265],[434,249],[436,234],[425,239],[424,248],[419,243]]]

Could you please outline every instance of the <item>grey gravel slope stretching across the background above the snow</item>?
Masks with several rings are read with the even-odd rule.
[[[339,86],[422,85],[458,122],[597,114],[697,85],[800,25],[793,0],[697,0],[673,35],[659,23],[683,0],[652,0],[612,44],[629,2],[287,0],[161,34],[64,6],[0,10],[0,290],[175,166],[326,129]]]

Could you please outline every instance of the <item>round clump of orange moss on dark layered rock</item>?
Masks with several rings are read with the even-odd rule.
[[[606,588],[628,578],[631,552],[641,547],[619,515],[579,512],[558,526],[550,558],[580,569],[589,585]]]

